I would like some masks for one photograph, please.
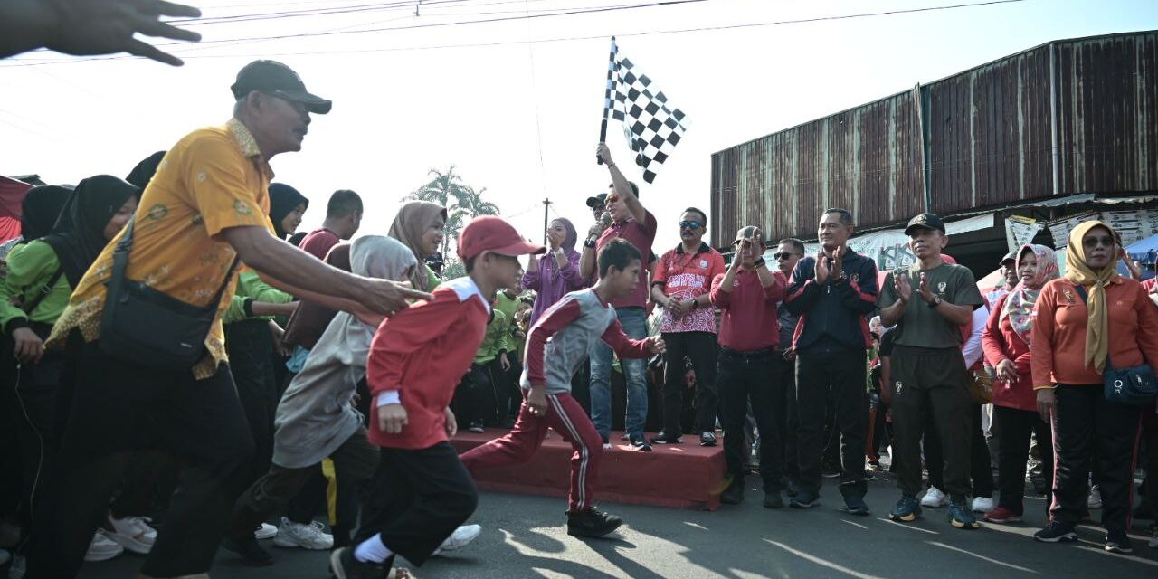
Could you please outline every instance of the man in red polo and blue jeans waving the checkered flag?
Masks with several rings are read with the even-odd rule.
[[[655,240],[655,215],[639,203],[639,188],[620,173],[615,166],[607,145],[600,142],[596,149],[599,159],[611,174],[611,185],[607,197],[607,213],[611,223],[595,223],[588,230],[579,256],[579,274],[591,278],[595,272],[595,256],[603,245],[616,237],[628,240],[639,250],[640,261],[651,261],[651,245]],[[606,218],[604,218],[606,219]],[[623,325],[623,331],[631,339],[647,337],[647,270],[640,267],[639,285],[636,291],[624,298],[611,300],[615,314]],[[608,447],[608,435],[611,431],[611,362],[614,353],[606,344],[595,344],[591,352],[591,419],[595,430]],[[644,422],[647,419],[647,362],[646,360],[621,360],[623,374],[628,381],[628,417],[624,430],[628,432],[631,446],[640,450],[651,450],[651,445],[644,438]]]

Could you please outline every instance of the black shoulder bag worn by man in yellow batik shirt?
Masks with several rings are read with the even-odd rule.
[[[101,351],[146,368],[188,371],[205,357],[205,337],[239,258],[234,258],[208,306],[186,303],[125,276],[133,247],[133,221],[129,221],[112,252],[112,277],[101,314]]]

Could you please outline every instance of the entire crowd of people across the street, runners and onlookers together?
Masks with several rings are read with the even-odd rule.
[[[146,577],[206,577],[219,547],[271,564],[261,538],[332,550],[339,579],[409,577],[397,555],[422,565],[482,532],[471,475],[529,460],[549,430],[574,449],[567,532],[603,536],[623,522],[594,507],[621,420],[622,452],[723,435],[728,505],[754,471],[767,508],[816,507],[830,477],[841,508],[868,515],[888,448],[901,523],[945,504],[960,529],[1019,521],[1031,455],[1050,498],[1035,540],[1075,540],[1100,506],[1105,548],[1129,552],[1139,456],[1153,518],[1158,416],[1129,382],[1158,364],[1158,301],[1152,279],[1117,273],[1105,222],[1064,240],[1064,273],[1027,244],[985,292],[932,213],[906,228],[915,263],[884,281],[843,208],[823,211],[813,255],[750,225],[726,259],[688,207],[657,256],[668,229],[600,144],[610,185],[582,236],[556,219],[544,247],[477,218],[457,239],[467,274],[444,280],[437,204],[350,241],[364,205],[337,190],[322,227],[298,232],[309,198],[269,162],[331,103],[269,60],[230,89],[226,124],[127,178],[24,199],[0,256],[9,577],[75,577],[126,549]],[[664,368],[652,409],[648,360]],[[460,456],[460,424],[508,432]]]

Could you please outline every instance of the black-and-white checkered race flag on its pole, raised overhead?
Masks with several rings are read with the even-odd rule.
[[[623,123],[623,134],[636,152],[636,164],[644,170],[647,183],[655,181],[655,170],[667,161],[688,125],[683,111],[669,107],[667,95],[646,74],[638,72],[631,60],[620,58],[614,37],[607,65],[601,142],[607,140],[608,116]]]

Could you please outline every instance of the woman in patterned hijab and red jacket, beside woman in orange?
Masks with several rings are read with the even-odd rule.
[[[1029,437],[1038,437],[1046,488],[1054,484],[1054,450],[1049,423],[1038,413],[1029,371],[1029,344],[1033,337],[1033,306],[1041,288],[1058,278],[1054,250],[1045,245],[1024,245],[1014,255],[1018,284],[994,303],[981,344],[985,361],[997,369],[994,381],[994,431],[998,437],[997,506],[985,513],[989,522],[1021,520],[1025,499],[1025,470]],[[1046,491],[1047,508],[1053,493]]]

